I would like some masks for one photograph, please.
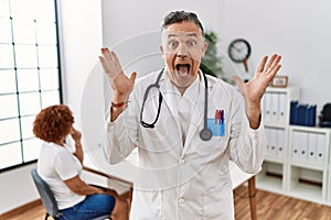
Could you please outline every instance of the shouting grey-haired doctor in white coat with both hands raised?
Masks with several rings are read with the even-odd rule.
[[[207,44],[194,13],[169,13],[161,35],[164,68],[137,80],[114,52],[102,48],[99,56],[114,92],[110,163],[138,147],[130,219],[234,219],[228,161],[247,173],[260,168],[260,100],[281,57],[265,56],[246,84],[234,77],[238,92],[200,70]]]

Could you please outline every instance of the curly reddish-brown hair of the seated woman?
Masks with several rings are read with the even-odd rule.
[[[43,141],[57,142],[70,133],[73,123],[74,117],[67,106],[50,106],[36,114],[33,133]]]

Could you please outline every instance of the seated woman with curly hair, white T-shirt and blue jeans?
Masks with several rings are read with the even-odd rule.
[[[115,190],[87,185],[81,177],[83,169],[82,134],[73,128],[74,117],[67,106],[43,109],[33,123],[33,133],[44,141],[38,160],[38,173],[51,187],[61,220],[88,220],[109,215],[114,220],[128,219],[128,204]],[[71,135],[74,153],[65,144]]]

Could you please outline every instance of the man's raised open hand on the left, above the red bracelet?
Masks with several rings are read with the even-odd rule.
[[[116,54],[107,47],[102,48],[102,56],[99,56],[99,61],[111,85],[114,102],[127,101],[134,89],[137,76],[136,72],[132,72],[131,76],[127,77],[122,72]]]

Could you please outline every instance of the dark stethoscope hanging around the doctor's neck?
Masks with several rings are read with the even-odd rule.
[[[146,91],[145,91],[145,95],[143,95],[143,100],[142,100],[142,105],[141,105],[141,110],[140,110],[140,124],[143,127],[143,128],[149,128],[149,129],[153,129],[156,127],[156,123],[158,122],[159,120],[159,116],[160,116],[160,111],[161,111],[161,103],[162,103],[162,100],[163,100],[163,97],[162,97],[162,94],[160,91],[160,79],[161,79],[161,76],[164,72],[164,68],[162,68],[159,73],[159,76],[156,80],[154,84],[151,84],[147,87]],[[204,120],[204,124],[203,124],[203,129],[200,131],[200,138],[203,140],[203,141],[209,141],[212,139],[213,134],[212,134],[212,131],[207,128],[207,106],[209,106],[209,82],[207,82],[207,79],[206,79],[206,76],[204,73],[202,73],[203,75],[203,79],[204,79],[204,116],[203,116],[203,120]],[[147,97],[148,97],[148,94],[149,91],[152,89],[152,88],[157,88],[159,90],[159,107],[158,107],[158,114],[154,119],[154,121],[152,123],[147,123],[142,120],[142,113],[143,113],[143,108],[145,108],[145,103],[146,103],[146,100],[147,100]]]

